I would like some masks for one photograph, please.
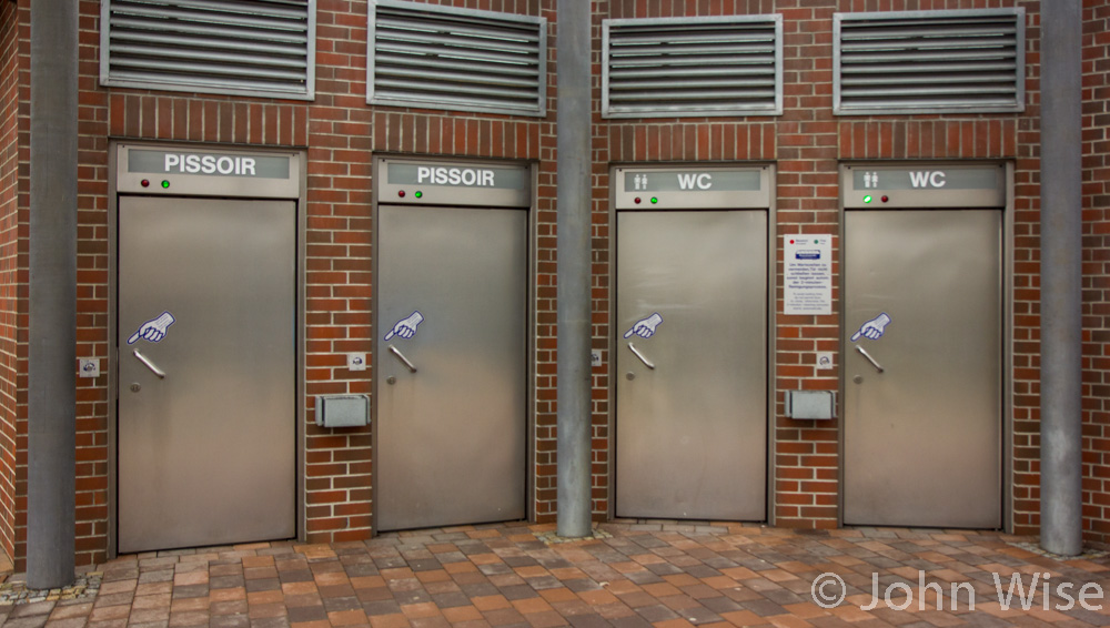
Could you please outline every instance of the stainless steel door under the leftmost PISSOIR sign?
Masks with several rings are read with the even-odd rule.
[[[119,549],[295,528],[296,207],[122,197]]]

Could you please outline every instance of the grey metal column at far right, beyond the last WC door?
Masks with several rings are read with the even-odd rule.
[[[1082,154],[1080,0],[1041,11],[1041,547],[1082,537]]]

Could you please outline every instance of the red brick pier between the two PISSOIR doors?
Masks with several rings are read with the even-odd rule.
[[[343,352],[369,352],[371,331],[370,163],[374,120],[365,108],[366,11],[323,2],[316,11],[316,100],[294,107],[295,138],[309,146],[305,261],[305,393],[369,393]],[[360,102],[362,101],[362,102]],[[311,415],[311,409],[310,413]],[[310,540],[370,535],[369,429],[305,431],[305,531]]]

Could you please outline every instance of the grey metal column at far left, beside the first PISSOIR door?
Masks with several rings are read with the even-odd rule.
[[[71,584],[77,440],[78,3],[31,0],[27,584]]]

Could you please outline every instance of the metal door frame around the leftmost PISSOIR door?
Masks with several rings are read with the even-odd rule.
[[[260,155],[260,154],[273,154],[279,156],[289,156],[291,166],[290,181],[287,185],[282,185],[276,188],[276,192],[269,195],[260,194],[243,194],[236,193],[236,191],[224,191],[220,195],[213,194],[196,194],[190,193],[188,190],[173,189],[172,192],[158,193],[129,193],[120,192],[120,172],[121,172],[121,152],[128,148],[135,149],[151,149],[151,150],[172,150],[172,151],[184,151],[184,152],[218,152],[222,154],[242,154],[242,155]],[[295,312],[294,312],[294,404],[293,416],[295,417],[294,435],[293,439],[296,443],[296,449],[294,453],[294,503],[296,507],[294,528],[296,530],[296,539],[301,543],[305,540],[305,508],[304,508],[304,449],[305,449],[305,437],[306,433],[304,429],[305,421],[305,401],[304,401],[304,368],[305,368],[305,333],[304,333],[304,322],[305,322],[305,231],[307,229],[306,220],[306,178],[304,168],[307,163],[307,153],[300,149],[274,149],[272,146],[258,146],[258,150],[251,150],[251,148],[244,148],[242,145],[223,145],[223,144],[192,144],[192,143],[164,143],[164,142],[143,142],[143,141],[130,141],[130,140],[115,140],[111,139],[108,142],[108,294],[109,294],[109,305],[108,305],[108,557],[115,558],[118,555],[119,547],[119,496],[118,496],[118,483],[119,483],[119,468],[118,468],[118,456],[119,456],[119,444],[117,439],[119,438],[119,395],[120,395],[120,382],[119,382],[119,338],[117,337],[119,330],[119,206],[121,195],[140,195],[140,196],[167,196],[167,197],[189,197],[189,199],[204,199],[204,197],[220,197],[220,199],[233,199],[233,200],[255,200],[255,199],[272,199],[272,200],[285,200],[292,201],[296,206],[296,252],[295,255],[295,276],[296,285],[294,291],[296,294]],[[161,175],[151,175],[150,179],[163,179]],[[167,175],[165,178],[171,178]]]

